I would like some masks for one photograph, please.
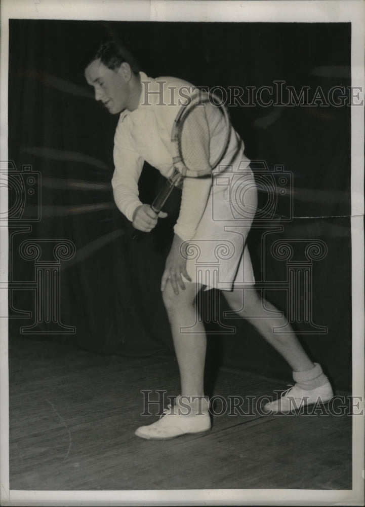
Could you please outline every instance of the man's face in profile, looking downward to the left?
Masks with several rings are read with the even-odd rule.
[[[128,64],[111,70],[100,60],[94,60],[85,70],[85,78],[94,87],[95,99],[101,100],[109,113],[115,115],[128,109],[131,96],[131,71]]]

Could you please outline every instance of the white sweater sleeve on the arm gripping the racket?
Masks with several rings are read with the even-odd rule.
[[[121,130],[121,129],[120,129]],[[114,200],[118,209],[132,222],[135,209],[142,204],[138,195],[138,180],[144,160],[128,146],[119,127],[114,137],[114,173],[111,180]]]

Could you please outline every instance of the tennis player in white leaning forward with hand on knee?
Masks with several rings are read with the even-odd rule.
[[[114,137],[112,177],[114,199],[135,229],[149,232],[166,213],[155,213],[138,197],[144,161],[169,178],[174,171],[171,132],[194,88],[180,79],[152,79],[136,73],[113,41],[102,43],[88,61],[85,77],[95,99],[119,115]],[[244,143],[233,130],[223,160],[211,177],[186,177],[174,239],[161,279],[161,292],[171,324],[178,360],[181,393],[163,417],[135,434],[165,440],[211,428],[209,400],[204,392],[206,334],[197,318],[195,298],[201,289],[221,289],[229,306],[246,318],[288,362],[295,385],[265,405],[266,411],[289,412],[305,404],[327,402],[333,396],[328,378],[312,363],[294,332],[273,333],[287,324],[280,312],[255,291],[255,278],[246,244],[257,206],[256,188]],[[195,142],[199,142],[196,139]],[[219,142],[219,135],[211,142]],[[212,146],[212,144],[211,144]],[[238,218],[232,215],[232,175],[239,174],[245,195]],[[233,203],[238,204],[238,203]],[[234,219],[234,220],[232,220]],[[222,246],[223,245],[223,246]],[[265,318],[263,315],[265,314]],[[288,328],[287,328],[288,329]],[[188,332],[187,332],[188,331]]]

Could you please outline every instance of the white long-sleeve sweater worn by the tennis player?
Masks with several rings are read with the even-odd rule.
[[[174,172],[171,132],[174,120],[185,103],[184,95],[196,88],[186,81],[171,77],[148,78],[140,73],[142,92],[134,111],[120,114],[114,136],[114,174],[112,187],[119,210],[132,221],[133,213],[142,204],[138,180],[144,161],[169,178]],[[242,141],[232,129],[227,154],[234,153]],[[184,241],[194,237],[205,211],[212,188],[212,178],[184,179],[179,218],[174,232]]]

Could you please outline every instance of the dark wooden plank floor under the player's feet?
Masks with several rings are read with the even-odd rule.
[[[141,416],[140,391],[177,394],[174,358],[98,355],[33,338],[9,346],[11,489],[351,488],[348,415],[226,411],[202,436],[145,441],[134,430],[156,417]],[[215,394],[259,397],[285,388],[220,371]]]

